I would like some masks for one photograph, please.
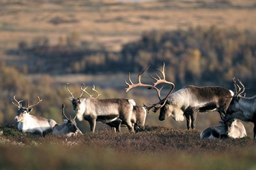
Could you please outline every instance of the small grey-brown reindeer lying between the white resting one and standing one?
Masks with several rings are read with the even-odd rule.
[[[83,133],[80,131],[80,129],[76,126],[76,116],[74,119],[67,118],[66,114],[64,113],[65,105],[62,105],[62,119],[63,123],[56,124],[53,127],[53,135],[66,135],[68,137],[71,137],[72,135],[77,135],[80,133],[83,135]]]

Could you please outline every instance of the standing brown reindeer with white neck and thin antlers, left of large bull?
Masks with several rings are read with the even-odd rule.
[[[87,86],[88,87],[88,86]],[[86,88],[87,88],[86,87]],[[66,84],[68,90],[68,84]],[[131,117],[133,106],[136,105],[133,99],[96,99],[94,97],[82,98],[83,92],[86,92],[85,84],[81,87],[82,93],[79,98],[74,98],[72,92],[69,97],[76,111],[79,121],[87,120],[89,122],[91,132],[94,133],[96,121],[99,122],[112,122],[119,118],[122,120],[129,131],[133,132]],[[88,94],[88,93],[87,93]]]

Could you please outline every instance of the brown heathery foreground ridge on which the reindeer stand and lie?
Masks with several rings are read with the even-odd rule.
[[[1,126],[0,169],[255,169],[256,141],[199,139],[201,131],[146,126],[63,137]],[[22,156],[20,156],[22,155]]]

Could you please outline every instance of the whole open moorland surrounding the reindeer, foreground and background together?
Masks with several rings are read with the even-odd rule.
[[[57,122],[62,122],[62,103],[67,115],[74,116],[67,82],[76,96],[85,83],[96,85],[102,94],[99,99],[155,103],[156,94],[147,89],[124,92],[124,80],[131,71],[137,81],[147,65],[152,65],[149,73],[154,74],[166,60],[175,90],[188,84],[233,90],[231,79],[239,77],[246,97],[252,97],[255,7],[251,0],[0,0],[0,169],[256,169],[251,122],[243,122],[248,136],[242,139],[200,139],[203,129],[218,126],[218,113],[197,114],[196,130],[187,131],[186,122],[172,118],[160,122],[159,114],[150,112],[145,131],[139,133],[128,133],[126,127],[113,133],[97,123],[92,134],[88,122],[76,121],[83,135],[40,137],[17,130],[17,108],[10,101],[17,95],[18,100],[25,99],[23,105],[35,103],[39,95],[43,101],[31,114]],[[165,31],[174,31],[166,34],[170,39],[184,41],[157,44],[165,39]],[[200,39],[201,35],[208,39]],[[152,44],[158,48],[152,50]],[[186,58],[188,54],[194,58]],[[126,63],[120,56],[127,61],[133,56],[136,62]],[[112,62],[113,71],[102,67],[110,60],[122,65]],[[144,81],[152,79],[145,75]],[[163,94],[168,91],[169,87],[162,89]]]

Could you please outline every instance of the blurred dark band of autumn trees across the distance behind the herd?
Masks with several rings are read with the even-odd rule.
[[[29,73],[114,73],[138,72],[147,65],[167,65],[169,80],[177,84],[224,81],[233,77],[256,83],[256,36],[236,28],[195,27],[175,31],[147,31],[138,41],[125,44],[121,52],[91,48],[77,33],[65,44],[49,45],[38,37],[31,45],[20,41],[10,54],[26,55],[31,63],[20,67]],[[221,75],[221,76],[220,76]]]

